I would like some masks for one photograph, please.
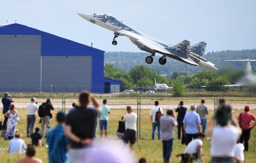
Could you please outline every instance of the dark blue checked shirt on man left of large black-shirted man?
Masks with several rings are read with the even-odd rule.
[[[67,161],[67,145],[69,141],[64,135],[64,126],[58,124],[47,133],[49,163],[65,163]]]

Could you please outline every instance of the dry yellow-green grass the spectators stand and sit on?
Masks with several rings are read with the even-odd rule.
[[[55,115],[60,109],[54,110],[53,114]],[[17,129],[26,136],[26,110],[18,109],[20,114],[20,122],[18,122]],[[136,110],[134,110],[136,112]],[[235,111],[235,116],[237,117],[241,111]],[[256,110],[252,110],[252,113],[256,114]],[[111,110],[111,114],[109,116],[109,137],[116,137],[115,133],[118,126],[118,121],[121,119],[121,116],[126,114],[126,111],[123,109]],[[212,116],[213,111],[210,111],[210,116]],[[210,117],[209,116],[209,117]],[[3,117],[1,116],[1,119]],[[39,127],[39,118],[36,120],[36,127]],[[55,125],[55,119],[52,119],[51,127]],[[99,130],[98,130],[99,132]],[[172,156],[170,158],[171,163],[179,163],[180,157],[176,157],[175,155],[178,153],[182,153],[185,149],[185,146],[180,143],[177,139],[177,130],[175,128],[175,141]],[[99,135],[99,133],[98,133]],[[29,138],[24,137],[24,140],[29,143]],[[9,141],[4,141],[3,138],[0,138],[0,148],[2,148],[3,153],[0,153],[0,163],[15,163],[19,158],[24,157],[23,154],[8,154],[8,143]],[[43,139],[43,143],[45,144],[45,140]],[[47,148],[45,147],[37,147],[36,156],[41,158],[44,163],[47,163]],[[210,141],[205,140],[203,142],[203,156],[202,160],[204,163],[208,163],[210,161]],[[252,130],[251,137],[249,140],[249,152],[245,152],[245,162],[244,163],[256,163],[256,129]],[[151,140],[151,122],[149,118],[149,110],[141,110],[141,139],[138,140],[135,144],[135,155],[137,159],[140,157],[145,157],[148,160],[148,163],[162,163],[162,142],[159,140]]]

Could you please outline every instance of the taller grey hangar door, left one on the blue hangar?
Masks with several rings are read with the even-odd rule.
[[[0,91],[40,91],[41,36],[0,35]]]

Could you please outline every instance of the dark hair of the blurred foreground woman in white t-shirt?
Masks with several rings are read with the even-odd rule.
[[[232,116],[232,108],[230,105],[223,105],[221,106],[216,114],[214,115],[214,118],[218,124],[221,126],[225,126],[228,124],[229,120]]]

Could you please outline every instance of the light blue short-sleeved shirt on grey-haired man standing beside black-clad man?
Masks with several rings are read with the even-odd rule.
[[[201,124],[200,116],[195,111],[187,113],[183,119],[183,124],[186,124],[187,134],[196,134],[199,132],[197,124]]]

